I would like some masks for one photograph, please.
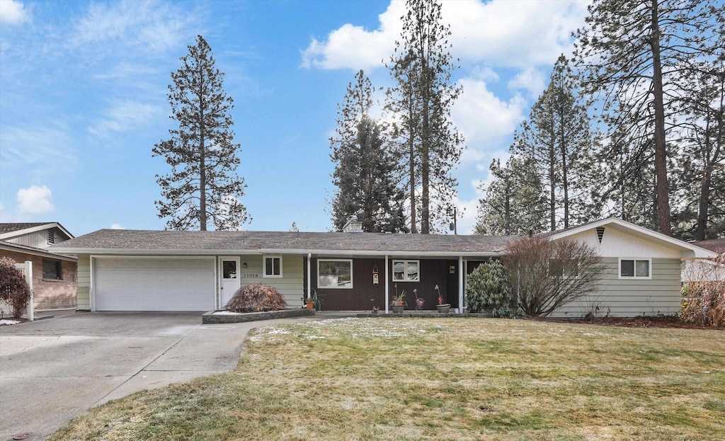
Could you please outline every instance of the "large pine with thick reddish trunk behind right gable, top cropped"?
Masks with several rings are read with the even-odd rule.
[[[671,234],[667,138],[677,124],[676,89],[683,62],[713,46],[713,13],[700,0],[596,0],[576,31],[584,89],[600,99],[611,127],[633,147],[629,163],[650,157],[655,167],[656,227]],[[645,152],[648,150],[648,152]],[[651,154],[650,154],[651,152]]]

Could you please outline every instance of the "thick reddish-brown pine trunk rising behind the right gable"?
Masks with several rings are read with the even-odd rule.
[[[660,60],[660,28],[658,21],[658,0],[652,0],[652,48],[653,95],[655,104],[655,176],[657,186],[658,230],[671,235],[670,194],[667,179],[667,145],[665,139],[665,106],[662,87],[662,62]]]

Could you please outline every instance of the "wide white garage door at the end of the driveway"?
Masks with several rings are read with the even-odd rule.
[[[99,311],[214,309],[214,260],[123,258],[94,260]]]

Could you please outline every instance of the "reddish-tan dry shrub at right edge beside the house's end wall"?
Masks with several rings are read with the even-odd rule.
[[[682,320],[725,326],[725,254],[690,265],[682,286]]]

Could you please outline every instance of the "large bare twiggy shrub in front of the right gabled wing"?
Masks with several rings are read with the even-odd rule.
[[[503,263],[530,317],[546,317],[563,305],[597,291],[604,272],[597,250],[569,238],[522,237],[511,242]]]

